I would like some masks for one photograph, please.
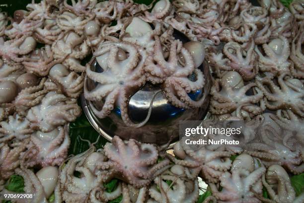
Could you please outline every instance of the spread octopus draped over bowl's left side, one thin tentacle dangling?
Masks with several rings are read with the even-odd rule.
[[[126,125],[133,127],[144,125],[150,117],[151,107],[144,121],[133,123],[128,115],[128,102],[132,94],[146,83],[144,74],[146,52],[127,42],[109,41],[102,43],[94,56],[102,72],[92,71],[87,65],[87,77],[97,82],[98,85],[89,91],[85,83],[84,97],[90,102],[104,102],[101,110],[95,108],[91,103],[95,115],[104,118],[111,113],[115,106],[119,106],[121,117]]]

